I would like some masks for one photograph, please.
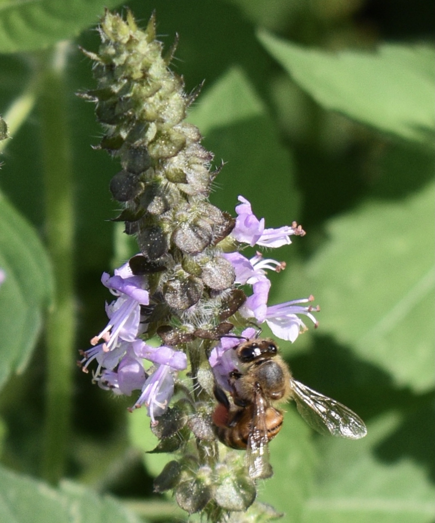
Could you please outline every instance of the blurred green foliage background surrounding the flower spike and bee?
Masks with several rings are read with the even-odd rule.
[[[166,48],[179,33],[172,67],[187,92],[205,80],[189,120],[216,165],[225,162],[211,201],[234,213],[241,194],[267,225],[297,220],[307,231],[274,253],[287,268],[273,275],[271,303],[313,293],[320,325],[282,350],[298,380],[350,406],[369,429],[361,441],[317,437],[289,405],[260,501],[294,523],[432,523],[432,2],[124,5],[143,25],[155,9]],[[104,6],[118,4],[0,2],[0,112],[12,137],[1,144],[0,173],[2,521],[70,521],[72,507],[82,521],[184,520],[170,497],[152,494],[168,457],[143,455],[153,448],[146,413],[128,414],[131,401],[73,367],[106,323],[102,272],[134,249],[109,221],[119,165],[91,148],[102,131],[93,106],[75,96],[95,85],[78,46],[97,50]],[[62,71],[61,87],[47,80],[52,70]],[[62,147],[65,169],[50,160]],[[54,179],[49,165],[58,165]],[[73,219],[53,232],[50,201],[61,193]],[[71,275],[70,319],[44,335]],[[51,424],[50,372],[66,384],[64,415]],[[64,442],[50,451],[44,431],[53,427]],[[41,477],[68,481],[41,490]],[[99,496],[107,493],[125,504]]]

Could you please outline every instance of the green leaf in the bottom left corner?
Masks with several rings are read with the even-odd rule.
[[[88,487],[46,483],[0,468],[0,521],[8,523],[139,523],[145,521],[115,499],[98,497]]]

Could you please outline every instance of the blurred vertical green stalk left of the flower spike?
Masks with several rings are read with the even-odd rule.
[[[73,188],[64,64],[68,44],[42,55],[40,123],[46,195],[47,248],[53,264],[54,303],[47,321],[47,396],[42,476],[57,483],[65,472],[74,367]]]

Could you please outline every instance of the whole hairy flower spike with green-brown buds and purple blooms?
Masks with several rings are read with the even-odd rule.
[[[80,365],[87,371],[96,360],[93,379],[104,389],[137,391],[131,410],[147,408],[160,439],[155,450],[177,451],[155,490],[173,489],[189,513],[203,510],[219,521],[252,504],[255,481],[240,453],[223,452],[215,435],[213,387],[225,372],[216,348],[264,322],[292,342],[306,328],[300,316],[316,324],[305,305],[313,297],[267,304],[267,271],[284,263],[241,250],[279,247],[305,233],[296,223],[266,229],[243,197],[236,218],[209,203],[219,169],[211,168],[213,154],[198,129],[184,121],[196,94],[186,95],[183,79],[169,70],[174,50],[163,56],[154,17],[140,30],[131,13],[124,20],[106,12],[99,32],[98,54],[85,51],[98,87],[81,96],[96,103],[105,130],[99,147],[120,159],[122,170],[110,182],[124,207],[116,220],[135,235],[140,253],[114,276],[103,274],[116,299]]]

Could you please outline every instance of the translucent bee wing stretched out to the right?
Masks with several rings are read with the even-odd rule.
[[[349,439],[360,439],[367,434],[363,420],[350,408],[293,378],[290,384],[299,414],[320,434]]]

